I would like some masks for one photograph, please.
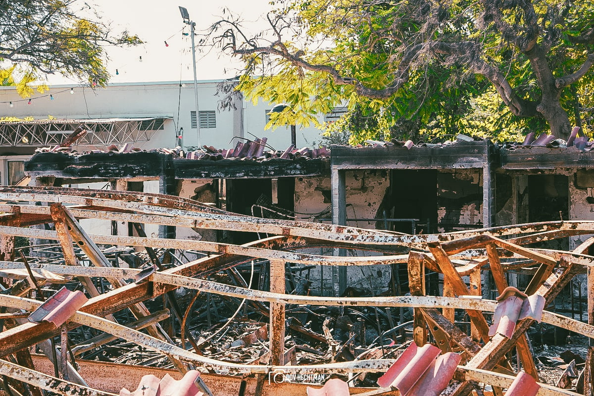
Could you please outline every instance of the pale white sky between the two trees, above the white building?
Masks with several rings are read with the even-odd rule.
[[[188,9],[190,20],[196,23],[197,33],[218,20],[217,15],[222,15],[224,6],[241,14],[244,20],[251,21],[249,26],[255,31],[258,27],[266,26],[264,16],[271,8],[269,1],[91,0],[89,4],[96,6],[103,15],[104,23],[111,22],[113,30],[128,30],[146,42],[125,49],[107,49],[110,58],[108,68],[112,74],[110,83],[134,83],[194,79],[191,38],[182,36],[182,28],[185,27],[184,31],[189,33],[189,26],[183,23],[178,5]],[[169,46],[165,45],[165,41]],[[197,52],[196,65],[198,80],[217,80],[237,75],[237,65],[233,65],[229,56],[214,50],[207,55]],[[59,75],[49,76],[52,85],[79,82]]]

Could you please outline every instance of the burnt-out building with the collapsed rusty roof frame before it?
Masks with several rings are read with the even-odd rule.
[[[592,144],[526,139],[40,150],[25,165],[38,186],[0,188],[4,389],[590,394]],[[61,187],[98,180],[110,189]],[[538,322],[585,362],[548,376]]]

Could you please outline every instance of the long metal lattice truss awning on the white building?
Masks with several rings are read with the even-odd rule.
[[[78,145],[149,141],[168,118],[51,119],[0,123],[0,146],[44,147],[59,145],[81,127],[87,134]]]

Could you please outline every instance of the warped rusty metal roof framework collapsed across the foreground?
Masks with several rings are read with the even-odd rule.
[[[72,359],[68,359],[67,353],[58,356],[51,343],[48,354],[50,357],[53,355],[55,360],[56,375],[39,372],[33,367],[29,347],[36,343],[48,343],[47,340],[58,335],[61,336],[62,345],[67,346],[68,330],[81,325],[99,332],[99,338],[94,341],[97,344],[122,338],[164,354],[180,372],[198,369],[219,374],[256,375],[259,383],[264,376],[279,370],[294,374],[352,375],[385,373],[394,365],[393,359],[287,365],[285,309],[289,304],[412,308],[415,344],[424,346],[432,341],[438,353],[459,355],[457,359],[460,362],[453,377],[445,389],[439,390],[442,395],[471,394],[476,384],[491,385],[494,394],[503,395],[503,389],[510,387],[520,368],[536,381],[539,395],[577,395],[567,389],[538,383],[539,371],[526,336],[526,331],[536,321],[535,316],[516,316],[509,332],[489,331],[489,325],[494,324],[490,322],[491,315],[484,313],[497,312],[503,306],[503,301],[481,298],[481,274],[490,273],[498,291],[503,293],[508,289],[505,273],[519,267],[531,277],[526,290],[523,290],[525,294],[520,294],[529,298],[538,297],[544,301],[544,306],[548,306],[574,276],[587,274],[587,323],[546,310],[542,312],[542,318],[541,315],[538,318],[542,322],[582,334],[590,339],[590,346],[594,344],[594,257],[587,255],[594,238],[573,251],[526,247],[533,242],[592,234],[594,222],[590,221],[522,224],[441,235],[405,235],[330,224],[253,218],[227,213],[189,199],[138,192],[51,187],[0,188],[0,200],[5,202],[0,204],[0,210],[4,211],[0,215],[0,275],[5,279],[5,290],[0,294],[0,306],[5,312],[1,314],[4,327],[0,332],[0,378],[4,378],[4,388],[15,395],[39,396],[39,389],[62,395],[111,395],[108,391],[89,387],[72,364],[75,363],[74,356]],[[34,205],[32,202],[46,202],[47,205]],[[83,218],[261,232],[273,236],[244,245],[232,245],[158,239],[146,237],[143,232],[138,233],[139,236],[89,235],[78,223]],[[54,230],[34,227],[41,224],[53,224]],[[137,230],[141,230],[141,227]],[[14,241],[17,236],[58,241],[64,265],[27,262],[24,256],[15,258]],[[113,267],[100,245],[145,248],[151,257],[151,264],[144,269]],[[302,252],[312,247],[334,248],[337,252],[364,249],[375,254],[331,256]],[[151,251],[156,248],[192,249],[208,255],[164,268],[151,255]],[[92,266],[81,265],[81,255],[86,256]],[[249,289],[247,284],[237,286],[206,279],[217,271],[234,268],[253,259],[270,262],[269,292]],[[315,297],[287,294],[287,263],[324,266],[406,263],[412,295]],[[443,296],[426,294],[425,271],[434,271],[443,276]],[[93,282],[97,278],[105,279],[110,284],[105,292],[97,289]],[[40,296],[40,284],[50,286],[68,280],[80,282],[90,296],[88,302],[59,328],[52,322],[27,321],[25,316],[42,304],[29,298],[31,294]],[[269,303],[270,364],[226,362],[176,344],[159,325],[159,321],[168,313],[150,312],[145,303],[178,287]],[[130,309],[135,320],[120,324],[115,321],[113,314],[125,308]],[[471,323],[470,334],[454,323],[454,309],[466,312]],[[509,319],[509,316],[506,318]],[[141,332],[141,328],[145,328],[148,334]],[[513,350],[516,350],[520,362],[516,368],[508,360]],[[583,394],[586,395],[592,392],[593,350],[593,347],[589,348],[582,370]],[[384,388],[368,389],[365,394],[394,394],[395,389],[396,385],[388,384]],[[208,387],[204,391],[208,393]]]

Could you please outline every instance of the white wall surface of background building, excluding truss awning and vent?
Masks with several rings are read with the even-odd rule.
[[[258,103],[254,106],[243,101],[237,110],[219,112],[217,110],[220,97],[216,96],[218,81],[200,81],[198,83],[199,110],[216,111],[216,128],[201,128],[201,144],[216,148],[234,147],[237,140],[233,137],[253,139],[251,134],[259,138],[267,137],[268,144],[277,150],[284,150],[290,144],[290,128],[280,127],[275,131],[264,131],[266,110],[273,104]],[[165,129],[157,131],[148,142],[137,142],[135,147],[173,148],[179,127],[184,128],[184,148],[197,146],[197,130],[191,128],[190,112],[195,111],[194,82],[178,82],[110,84],[106,88],[80,87],[78,85],[56,85],[45,93],[34,93],[31,104],[28,99],[18,96],[14,87],[0,87],[0,117],[14,116],[34,119],[89,119],[89,118],[173,118],[165,122]],[[70,88],[74,90],[70,94]],[[52,94],[54,99],[50,100]],[[45,97],[42,97],[45,96]],[[9,106],[9,102],[13,106]],[[239,104],[239,103],[238,103]],[[321,118],[320,118],[321,119]],[[247,132],[244,132],[247,131]],[[302,129],[297,126],[298,147],[311,147],[312,142],[320,140],[320,130],[314,127]],[[309,144],[306,144],[308,142]],[[93,147],[104,148],[104,147]],[[85,147],[75,147],[79,151]]]

